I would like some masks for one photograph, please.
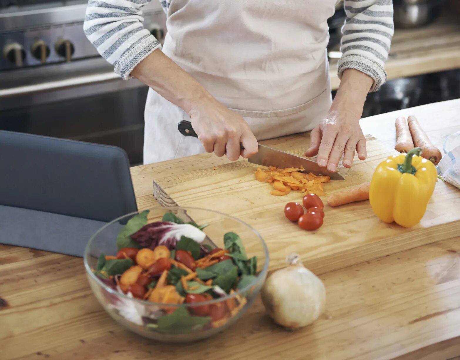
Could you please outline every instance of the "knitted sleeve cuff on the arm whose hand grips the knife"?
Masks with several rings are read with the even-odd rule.
[[[156,49],[161,49],[160,41],[156,40],[153,35],[146,37],[136,45],[131,46],[121,56],[115,64],[115,73],[124,80],[131,79],[131,71]]]

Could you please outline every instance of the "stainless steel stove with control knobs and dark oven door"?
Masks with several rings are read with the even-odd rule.
[[[123,81],[86,39],[86,0],[0,0],[0,129],[124,148],[142,162],[148,88]],[[144,26],[161,41],[158,0]]]

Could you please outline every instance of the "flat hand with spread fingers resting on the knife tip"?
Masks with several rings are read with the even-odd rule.
[[[355,150],[361,160],[366,159],[366,139],[359,126],[361,111],[332,106],[328,115],[311,131],[310,148],[305,156],[318,154],[318,165],[330,172],[337,171],[340,158],[345,168],[351,168]]]

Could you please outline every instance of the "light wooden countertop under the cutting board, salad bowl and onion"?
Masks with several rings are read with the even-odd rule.
[[[460,130],[460,99],[363,119],[394,146],[394,120],[418,116],[438,147]],[[139,209],[157,206],[155,165],[132,168]],[[454,204],[454,206],[458,204]],[[446,209],[455,211],[455,209]],[[457,209],[458,211],[458,209]],[[460,237],[320,275],[326,314],[290,332],[257,300],[222,334],[155,343],[124,330],[92,295],[80,258],[0,245],[0,359],[452,359],[460,355]]]

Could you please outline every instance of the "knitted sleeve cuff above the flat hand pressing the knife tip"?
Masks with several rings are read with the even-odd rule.
[[[342,79],[343,72],[346,69],[355,69],[369,75],[374,79],[369,92],[374,92],[386,81],[385,69],[374,60],[366,58],[361,55],[346,55],[340,58],[338,64],[338,75],[339,79]]]

